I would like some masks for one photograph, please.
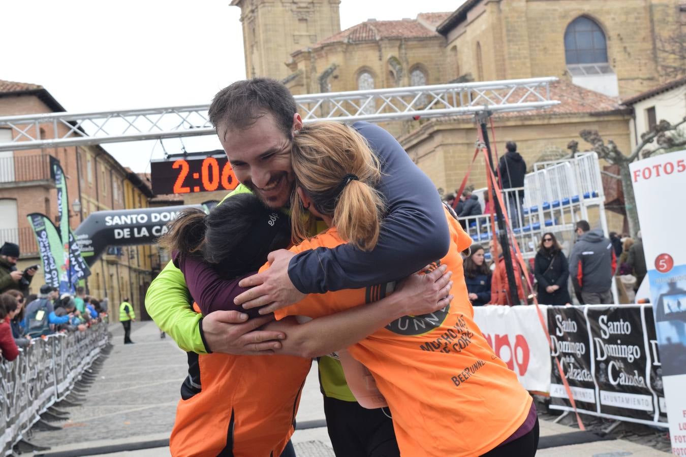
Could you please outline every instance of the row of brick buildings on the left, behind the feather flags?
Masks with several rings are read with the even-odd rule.
[[[0,116],[62,111],[60,103],[42,86],[0,80]],[[58,134],[66,133],[66,128],[58,127]],[[40,136],[54,138],[55,134],[41,131]],[[11,139],[10,129],[0,129],[0,140]],[[143,208],[152,197],[150,188],[137,175],[99,146],[0,152],[0,211],[3,214],[0,241],[19,244],[19,269],[41,264],[27,214],[40,212],[58,223],[57,190],[49,167],[51,157],[60,162],[67,178],[72,230],[91,212]],[[83,284],[86,293],[97,299],[107,299],[110,313],[118,310],[121,299],[130,298],[140,315],[145,297],[143,289],[152,281],[155,258],[152,249],[150,246],[108,249],[91,265],[91,276]],[[39,269],[31,291],[36,293],[44,283],[43,271]]]

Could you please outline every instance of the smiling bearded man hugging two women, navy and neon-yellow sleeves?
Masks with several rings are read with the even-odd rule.
[[[270,208],[287,210],[294,182],[292,138],[303,125],[287,88],[265,78],[235,82],[215,96],[209,116],[241,182],[234,193],[252,192]],[[237,304],[244,308],[262,306],[260,313],[267,314],[296,303],[308,293],[400,280],[447,253],[448,225],[431,180],[388,132],[365,122],[355,123],[353,128],[364,136],[382,164],[378,190],[386,199],[388,213],[379,244],[368,252],[351,245],[297,256],[283,249],[274,251],[269,257],[270,269],[241,280],[239,286],[254,287],[239,295]],[[145,306],[161,330],[182,349],[198,354],[265,354],[280,348],[279,340],[287,338],[283,332],[255,330],[272,317],[247,320],[246,314],[234,311],[211,312],[206,317],[193,312],[184,277],[171,262],[150,285]],[[334,447],[340,449],[351,442],[344,436],[346,431],[364,441],[358,449],[346,448],[340,455],[375,455],[371,449],[386,446],[391,440],[395,454],[388,455],[397,455],[390,419],[381,410],[357,405],[340,362],[324,357],[319,368]]]

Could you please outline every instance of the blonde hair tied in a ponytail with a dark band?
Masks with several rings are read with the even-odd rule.
[[[341,238],[363,251],[374,249],[385,203],[375,188],[379,160],[362,135],[341,123],[309,123],[294,138],[292,164],[296,186],[333,219]],[[293,239],[299,243],[314,221],[295,193],[291,208]]]

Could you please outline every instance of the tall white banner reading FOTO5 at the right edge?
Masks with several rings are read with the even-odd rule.
[[[630,164],[630,171],[648,267],[672,453],[686,456],[686,151],[639,160]]]

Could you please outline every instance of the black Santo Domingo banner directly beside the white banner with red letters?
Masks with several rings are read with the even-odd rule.
[[[553,358],[560,360],[569,388],[580,412],[598,411],[589,330],[584,310],[573,306],[548,308],[548,332]],[[555,360],[550,374],[551,408],[571,408],[567,391]]]

